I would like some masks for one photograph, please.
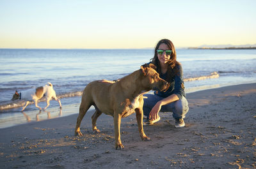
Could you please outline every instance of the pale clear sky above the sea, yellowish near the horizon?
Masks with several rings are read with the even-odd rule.
[[[0,0],[0,48],[256,43],[256,1]]]

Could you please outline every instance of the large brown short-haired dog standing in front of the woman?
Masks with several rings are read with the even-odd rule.
[[[150,140],[143,131],[143,94],[154,88],[161,91],[168,89],[168,83],[159,77],[154,64],[145,64],[140,70],[121,78],[118,82],[99,80],[90,82],[82,95],[79,116],[77,117],[75,135],[82,136],[81,121],[92,105],[96,111],[92,115],[92,129],[100,133],[96,127],[97,118],[102,114],[114,117],[115,148],[123,149],[120,139],[120,123],[122,117],[136,112],[136,119],[142,140]]]

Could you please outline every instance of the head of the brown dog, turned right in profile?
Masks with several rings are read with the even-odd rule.
[[[144,64],[141,66],[143,72],[142,84],[149,90],[167,91],[170,84],[159,77],[154,64]]]

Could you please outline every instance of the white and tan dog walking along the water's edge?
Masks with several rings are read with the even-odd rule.
[[[23,111],[28,106],[29,102],[31,102],[31,101],[34,101],[35,106],[41,110],[41,108],[38,107],[38,105],[37,105],[37,101],[38,101],[38,99],[42,98],[43,96],[45,96],[46,103],[47,103],[47,105],[44,109],[49,107],[50,100],[52,98],[54,98],[56,101],[59,102],[60,108],[61,108],[60,99],[58,99],[56,97],[56,92],[54,91],[54,89],[52,87],[52,84],[50,82],[48,82],[44,87],[41,86],[41,87],[38,87],[36,89],[29,89],[29,90],[23,91],[23,92],[17,92],[16,91],[15,94],[13,94],[12,101],[16,100],[16,99],[21,99],[21,100],[26,101],[26,104],[22,108],[21,111]]]

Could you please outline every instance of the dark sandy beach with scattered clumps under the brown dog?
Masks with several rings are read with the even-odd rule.
[[[161,112],[161,121],[144,126],[148,142],[135,114],[122,119],[122,150],[114,148],[113,117],[101,115],[96,134],[92,111],[81,137],[74,136],[78,114],[0,129],[0,168],[256,168],[256,84],[187,98],[186,127],[175,128],[172,114]]]

